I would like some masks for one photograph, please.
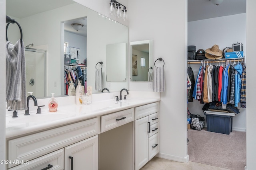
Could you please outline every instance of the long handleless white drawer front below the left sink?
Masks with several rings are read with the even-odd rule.
[[[99,118],[27,135],[8,141],[8,160],[32,160],[99,133]],[[8,168],[14,165],[8,164]]]

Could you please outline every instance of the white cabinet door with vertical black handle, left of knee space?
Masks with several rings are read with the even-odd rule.
[[[65,147],[65,170],[71,169],[98,170],[98,135]]]

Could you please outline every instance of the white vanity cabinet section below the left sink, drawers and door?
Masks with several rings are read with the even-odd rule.
[[[8,160],[15,160],[19,163],[28,162],[28,164],[18,165],[18,163],[12,163],[8,164],[7,167],[9,170],[41,170],[44,168],[47,169],[49,164],[49,166],[53,166],[50,170],[68,170],[71,167],[71,159],[68,157],[73,156],[73,161],[76,163],[76,166],[80,166],[78,165],[79,161],[82,165],[81,167],[88,166],[90,167],[86,168],[88,170],[97,170],[99,132],[100,118],[96,117],[78,123],[8,140]],[[52,153],[57,152],[57,150],[62,150],[62,152],[56,153],[53,161],[53,158],[50,156],[52,156]],[[44,167],[40,164],[43,164]],[[32,166],[32,168],[30,168],[30,166]],[[66,168],[66,166],[68,167]]]

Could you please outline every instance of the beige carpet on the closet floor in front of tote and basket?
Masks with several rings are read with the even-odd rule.
[[[188,130],[189,160],[202,164],[244,170],[246,166],[246,132],[233,131],[230,135]]]

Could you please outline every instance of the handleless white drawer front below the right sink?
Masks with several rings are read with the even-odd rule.
[[[135,107],[135,116],[134,119],[140,119],[142,117],[148,116],[152,113],[156,113],[159,110],[159,103],[152,103],[152,104],[147,104],[144,106],[139,106]]]

